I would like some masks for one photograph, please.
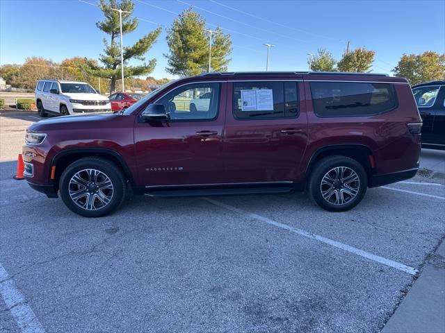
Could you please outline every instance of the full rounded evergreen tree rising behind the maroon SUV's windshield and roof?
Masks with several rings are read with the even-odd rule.
[[[169,54],[167,71],[173,75],[195,76],[208,71],[209,37],[204,31],[205,19],[192,8],[181,12],[170,28],[167,29]],[[211,40],[211,69],[227,71],[229,54],[232,52],[230,35],[217,27]]]

